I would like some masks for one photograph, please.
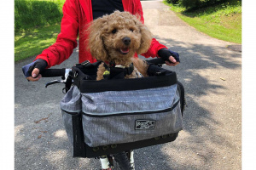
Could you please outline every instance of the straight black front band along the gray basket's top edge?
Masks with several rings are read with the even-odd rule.
[[[132,79],[112,79],[112,80],[82,80],[79,83],[81,93],[99,93],[106,91],[129,91],[148,88],[161,88],[172,86],[177,83],[176,73],[160,77],[144,77]]]

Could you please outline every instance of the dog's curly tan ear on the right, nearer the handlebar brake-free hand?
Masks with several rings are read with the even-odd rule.
[[[137,54],[143,54],[148,51],[152,41],[152,33],[148,30],[147,26],[144,26],[140,20],[136,20],[136,25],[139,27],[142,34],[141,46],[137,49]]]

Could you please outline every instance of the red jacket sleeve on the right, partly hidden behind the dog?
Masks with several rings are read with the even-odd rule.
[[[140,2],[140,0],[134,0],[134,11],[133,14],[139,14],[141,17],[141,21],[144,24],[144,17],[143,17],[143,7],[142,7],[142,3]],[[152,39],[151,42],[151,46],[148,49],[147,53],[142,54],[144,57],[148,58],[148,57],[159,57],[157,52],[161,49],[161,48],[166,48],[165,45],[160,44],[160,42],[158,42],[155,38]]]

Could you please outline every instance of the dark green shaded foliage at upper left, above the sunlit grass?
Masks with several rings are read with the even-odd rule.
[[[15,0],[15,31],[61,21],[61,2],[38,0]]]

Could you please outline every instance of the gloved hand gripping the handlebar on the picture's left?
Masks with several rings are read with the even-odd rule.
[[[47,67],[47,62],[44,59],[37,59],[32,63],[22,67],[22,71],[28,81],[36,82],[42,76],[40,72]]]

